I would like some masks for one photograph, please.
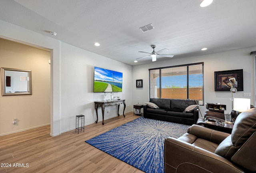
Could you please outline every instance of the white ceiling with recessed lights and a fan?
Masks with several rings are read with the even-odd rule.
[[[200,2],[0,0],[0,20],[130,65],[151,62],[134,60],[146,55],[138,51],[152,52],[152,44],[169,49],[164,54],[172,59],[256,46],[256,0],[213,0],[204,8]],[[148,24],[155,29],[139,29]]]

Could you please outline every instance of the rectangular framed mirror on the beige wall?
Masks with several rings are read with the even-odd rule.
[[[31,70],[1,68],[2,95],[32,94]]]

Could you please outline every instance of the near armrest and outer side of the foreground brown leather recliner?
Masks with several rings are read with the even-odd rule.
[[[164,141],[165,173],[244,173],[230,161],[190,143],[168,137]]]

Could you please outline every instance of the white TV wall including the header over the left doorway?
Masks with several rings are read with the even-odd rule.
[[[51,50],[50,135],[74,129],[75,115],[85,115],[86,124],[96,120],[93,101],[103,100],[105,97],[104,93],[93,93],[94,66],[123,73],[123,92],[118,95],[126,99],[126,112],[132,111],[132,66],[2,20],[0,26],[0,38]],[[123,105],[120,105],[120,114],[121,110]],[[109,111],[110,113],[105,113],[104,119],[117,115],[116,107],[109,107]],[[102,114],[101,111],[98,112],[101,121]]]

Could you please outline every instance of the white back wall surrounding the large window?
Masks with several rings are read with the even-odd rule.
[[[223,103],[227,105],[227,111],[232,109],[230,91],[214,91],[214,72],[223,70],[243,69],[244,73],[244,91],[234,93],[234,97],[250,98],[251,104],[255,105],[255,77],[254,77],[254,56],[250,52],[255,51],[256,47],[208,54],[204,56],[194,56],[190,58],[170,58],[170,60],[157,60],[150,64],[144,64],[132,67],[132,82],[143,79],[143,88],[132,86],[132,103],[137,103],[139,96],[140,103],[149,100],[149,73],[148,69],[175,66],[182,64],[191,64],[204,62],[204,102]],[[251,97],[244,97],[243,93],[251,93]],[[200,106],[202,113],[206,111],[205,105]]]

